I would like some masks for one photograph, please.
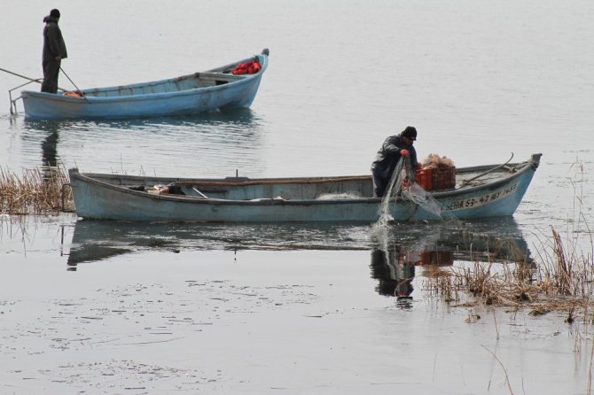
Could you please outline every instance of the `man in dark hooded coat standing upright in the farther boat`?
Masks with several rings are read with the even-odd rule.
[[[43,18],[43,83],[42,92],[58,92],[58,74],[62,59],[65,59],[66,43],[58,27],[59,11],[51,10],[50,15]]]

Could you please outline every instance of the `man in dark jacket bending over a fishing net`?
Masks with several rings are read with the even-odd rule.
[[[417,140],[417,129],[406,127],[399,135],[389,136],[378,151],[375,161],[371,164],[373,175],[373,196],[383,197],[392,178],[394,169],[403,156],[410,156],[412,172],[417,169],[417,151],[412,143]]]

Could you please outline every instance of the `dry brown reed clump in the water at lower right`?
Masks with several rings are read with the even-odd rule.
[[[503,263],[487,259],[439,275],[429,272],[424,290],[457,306],[529,308],[535,316],[565,311],[567,322],[574,321],[577,312],[587,318],[594,302],[592,255],[568,252],[554,228],[537,252],[539,259],[531,264],[522,257]]]

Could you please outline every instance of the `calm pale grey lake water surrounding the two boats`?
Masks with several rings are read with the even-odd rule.
[[[247,58],[263,48],[270,49],[270,65],[250,109],[122,121],[27,120],[20,102],[19,114],[11,116],[8,91],[26,81],[0,73],[0,104],[4,103],[0,105],[0,166],[15,174],[48,162],[86,172],[200,177],[236,171],[251,177],[369,174],[383,140],[407,125],[418,128],[415,145],[420,158],[437,152],[453,159],[457,167],[501,163],[512,153],[514,161],[535,152],[542,152],[543,159],[513,219],[403,225],[379,236],[371,226],[144,227],[76,223],[72,215],[3,218],[0,329],[4,335],[0,337],[6,345],[0,348],[0,381],[7,384],[2,391],[43,393],[44,388],[45,393],[70,393],[60,383],[74,383],[89,393],[103,393],[98,387],[105,376],[91,373],[94,358],[104,374],[115,372],[118,391],[168,392],[169,387],[141,385],[134,377],[122,376],[127,353],[137,358],[133,364],[137,371],[143,364],[157,364],[158,355],[166,355],[168,369],[160,368],[167,371],[172,388],[177,385],[191,393],[198,390],[184,387],[182,368],[206,377],[199,388],[207,392],[477,393],[488,391],[490,380],[499,385],[491,390],[506,391],[499,365],[481,345],[490,350],[501,347],[497,355],[512,376],[515,393],[520,388],[529,393],[528,387],[543,393],[586,390],[589,360],[576,356],[573,332],[567,325],[522,322],[513,326],[506,321],[500,323],[507,326],[498,328],[501,343],[497,343],[493,325],[469,328],[463,322],[464,310],[448,314],[439,307],[437,314],[426,313],[433,307],[419,285],[401,281],[418,278],[422,269],[390,273],[395,266],[386,262],[394,252],[416,254],[422,261],[423,252],[435,250],[443,251],[440,257],[446,263],[472,261],[473,255],[466,251],[471,245],[490,249],[497,240],[508,239],[535,256],[550,227],[577,237],[586,252],[591,250],[591,233],[584,223],[594,224],[592,2],[58,0],[48,4],[35,0],[4,7],[0,67],[32,78],[42,76],[42,20],[53,7],[62,14],[60,27],[69,54],[62,67],[79,88],[189,74]],[[63,74],[59,85],[74,88]],[[279,272],[279,267],[286,273]],[[121,322],[105,319],[104,329],[93,327],[85,336],[88,322],[71,325],[66,320],[61,327],[52,318],[69,314],[80,318],[90,314],[85,308],[125,310],[118,308],[118,298],[137,292],[148,295],[137,303],[168,300],[167,296],[177,295],[180,283],[187,287],[188,281],[201,278],[214,282],[207,282],[208,287],[225,282],[221,286],[229,288],[223,292],[227,294],[244,284],[251,287],[246,293],[277,305],[238,304],[241,314],[236,315],[230,315],[230,311],[236,313],[232,308],[222,310],[227,312],[219,316],[224,323],[218,321],[215,326],[219,333],[234,337],[232,341],[214,332],[197,340],[194,327],[162,330],[173,333],[160,335],[162,340],[184,337],[204,347],[208,358],[196,366],[189,360],[197,355],[180,345],[176,355],[158,348],[136,353],[126,345],[115,347],[117,357],[110,355],[113,349],[98,352],[98,344],[111,341],[106,333],[126,337],[163,326],[159,320],[138,319],[137,326],[131,320],[118,331],[114,328]],[[138,286],[142,292],[135,290],[137,283],[144,284]],[[296,284],[302,299],[291,299],[290,287],[281,284]],[[168,286],[172,290],[166,290]],[[151,287],[159,290],[151,293]],[[404,299],[403,306],[403,299],[386,297],[394,295],[396,288],[412,296],[412,301]],[[282,292],[277,295],[270,289]],[[212,298],[224,297],[213,294]],[[184,300],[170,302],[185,306]],[[302,311],[299,300],[324,313]],[[10,307],[12,303],[16,307]],[[272,306],[281,305],[286,309],[275,313]],[[49,315],[40,313],[44,306],[51,306]],[[66,312],[64,306],[79,309]],[[143,314],[148,317],[154,311],[146,307]],[[249,311],[260,318],[250,318]],[[312,319],[303,321],[303,317],[332,311],[338,313],[321,325],[316,321],[311,327]],[[175,315],[167,308],[158,312],[160,317]],[[204,314],[197,306],[191,312],[190,318]],[[178,318],[184,320],[184,314]],[[33,324],[35,320],[43,325]],[[262,326],[254,320],[261,320]],[[291,320],[297,322],[294,329],[289,326]],[[355,327],[345,329],[349,323]],[[61,337],[47,328],[67,331],[63,337],[70,345],[57,342]],[[262,337],[254,337],[259,330]],[[39,334],[42,343],[32,345],[31,338],[21,337],[23,331]],[[302,336],[306,331],[308,341]],[[342,336],[336,336],[340,331]],[[448,334],[452,350],[442,345],[441,352],[435,351],[439,344],[435,331]],[[78,340],[74,346],[74,338],[86,337],[98,343]],[[294,342],[295,338],[301,340]],[[424,338],[429,341],[424,343]],[[469,338],[473,340],[467,344]],[[532,352],[521,351],[525,343],[519,338],[532,342]],[[137,344],[145,340],[137,339]],[[226,341],[238,351],[223,346]],[[260,348],[247,349],[250,342]],[[332,347],[340,352],[318,354]],[[15,351],[20,349],[24,351]],[[449,351],[457,350],[461,353],[452,357]],[[92,356],[84,357],[83,352]],[[317,355],[322,362],[311,365],[305,353]],[[394,358],[408,358],[410,363],[395,364]],[[229,359],[237,362],[225,362]],[[559,361],[567,366],[553,371],[549,361],[555,361],[557,368]],[[490,370],[477,368],[483,362]],[[27,365],[33,367],[28,372]],[[66,366],[81,367],[82,378],[60,373],[59,367]],[[440,370],[444,366],[449,368]],[[294,369],[293,375],[282,368]],[[424,376],[395,374],[403,368]],[[460,374],[464,378],[451,378]],[[568,387],[555,387],[559,375],[564,383],[571,382]],[[156,382],[159,375],[152,377]],[[84,380],[98,387],[85,387]],[[134,390],[141,387],[145,390]],[[551,388],[559,391],[546,391]]]

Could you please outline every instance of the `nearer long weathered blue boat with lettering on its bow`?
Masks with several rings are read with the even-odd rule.
[[[409,199],[388,205],[394,221],[512,216],[542,154],[510,164],[456,169],[456,185],[427,192],[441,213]],[[116,221],[285,222],[379,220],[371,175],[297,178],[175,178],[68,170],[75,211]]]

